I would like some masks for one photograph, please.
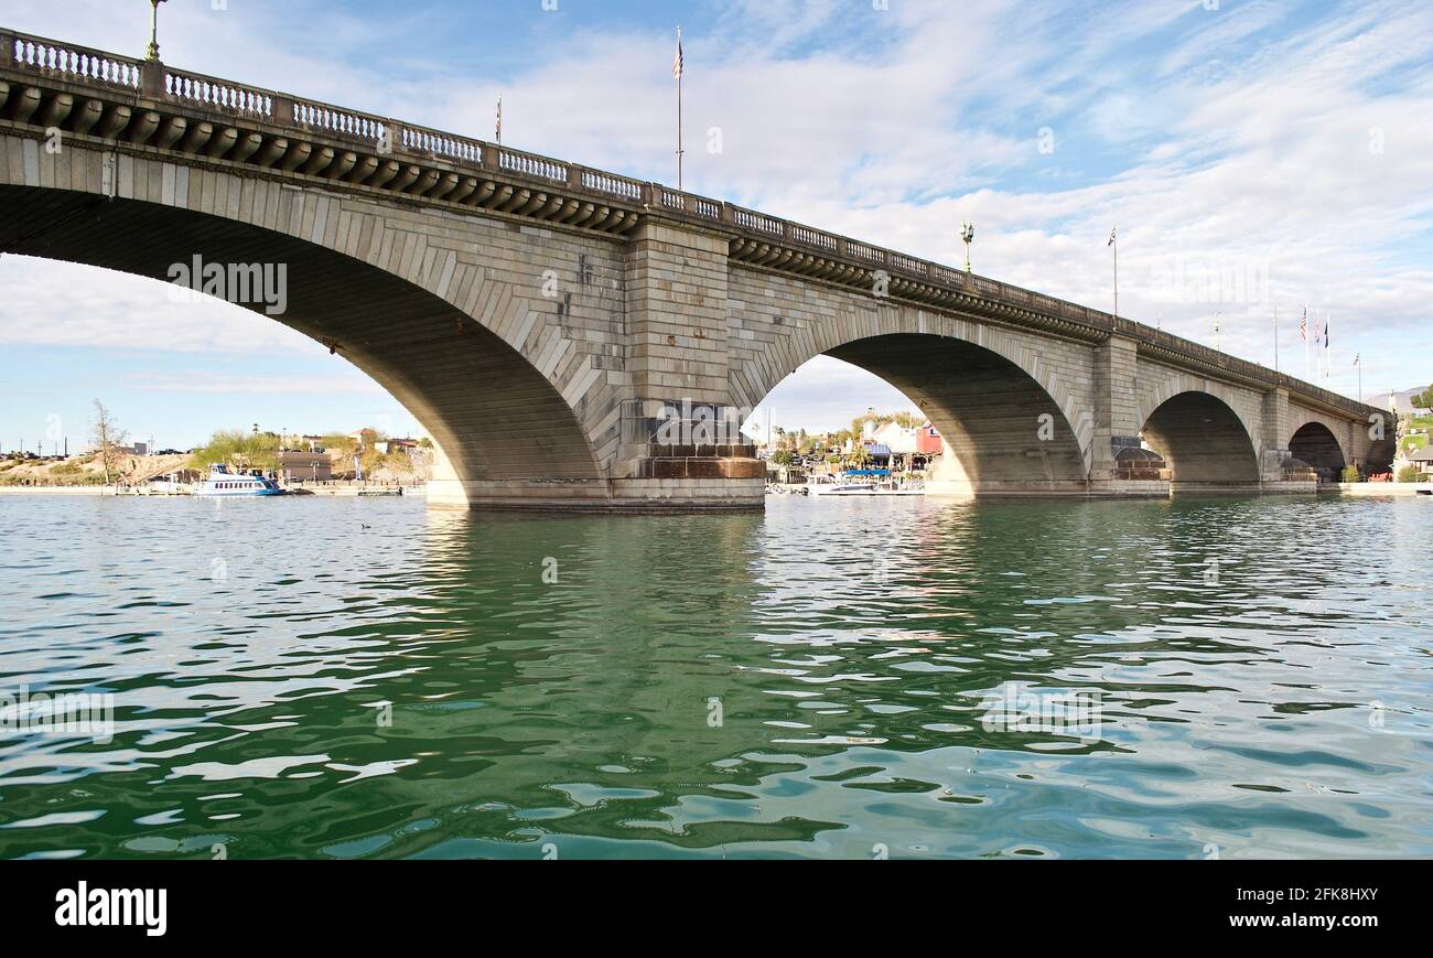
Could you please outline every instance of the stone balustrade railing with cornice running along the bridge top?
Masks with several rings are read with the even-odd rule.
[[[168,100],[179,108],[228,115],[236,120],[248,119],[278,131],[292,129],[311,136],[332,138],[351,149],[367,148],[381,155],[396,153],[413,161],[430,159],[446,163],[456,172],[470,171],[474,176],[510,176],[529,181],[535,184],[533,189],[560,189],[563,194],[585,196],[592,202],[600,201],[608,208],[628,209],[629,215],[625,218],[603,219],[603,222],[619,222],[622,228],[629,228],[628,224],[635,225],[639,214],[661,212],[695,225],[719,228],[748,241],[759,251],[772,248],[804,252],[801,260],[830,262],[847,281],[853,281],[853,277],[866,281],[876,272],[886,272],[893,280],[893,295],[901,294],[898,283],[903,281],[907,290],[934,290],[944,297],[943,301],[954,301],[956,297],[966,303],[987,301],[1012,314],[1016,321],[1022,314],[1045,317],[1046,326],[1055,331],[1058,324],[1063,323],[1066,324],[1063,328],[1085,330],[1086,338],[1118,334],[1135,340],[1141,350],[1154,359],[1178,360],[1185,366],[1211,373],[1222,371],[1267,387],[1283,386],[1303,399],[1360,417],[1373,410],[1371,406],[1142,323],[655,182],[588,169],[550,156],[526,153],[278,90],[176,70],[162,63],[7,30],[0,30],[0,70],[39,75],[76,86],[122,90],[130,98]],[[401,182],[413,181],[404,178]],[[469,191],[463,191],[463,195],[469,195]],[[774,257],[777,261],[785,258]]]

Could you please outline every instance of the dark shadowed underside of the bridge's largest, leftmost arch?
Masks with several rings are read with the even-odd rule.
[[[596,480],[577,414],[517,350],[447,300],[287,232],[158,202],[0,185],[0,252],[169,281],[211,264],[284,264],[287,310],[388,390],[460,480]],[[262,301],[239,303],[264,314]],[[443,463],[438,463],[443,468]]]

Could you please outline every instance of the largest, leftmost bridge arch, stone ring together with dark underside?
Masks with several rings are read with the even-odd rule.
[[[39,148],[0,136],[0,252],[160,281],[195,257],[284,264],[285,310],[272,318],[328,346],[413,413],[440,450],[440,499],[602,485],[602,436],[586,414],[598,413],[586,393],[599,377],[563,341],[539,283],[520,287],[481,252],[406,231],[377,204],[146,158],[122,156],[106,171],[99,152],[77,146],[63,165],[36,163]],[[105,185],[115,178],[118,189]],[[540,264],[563,267],[569,252],[576,261],[550,244]]]

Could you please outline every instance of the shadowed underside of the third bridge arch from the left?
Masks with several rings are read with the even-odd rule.
[[[1145,420],[1145,442],[1164,456],[1171,489],[1254,486],[1258,453],[1244,422],[1209,393],[1176,393]]]

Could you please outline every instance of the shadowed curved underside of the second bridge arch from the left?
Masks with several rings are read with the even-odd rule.
[[[1016,363],[974,343],[890,333],[825,351],[904,393],[940,430],[927,489],[946,495],[1043,495],[1088,489],[1075,430],[1046,389]]]

